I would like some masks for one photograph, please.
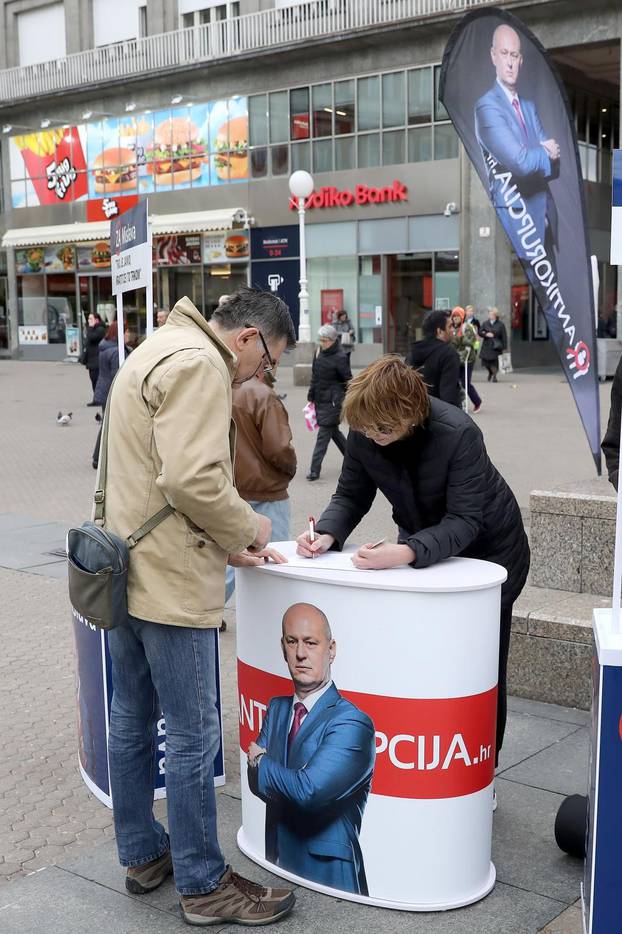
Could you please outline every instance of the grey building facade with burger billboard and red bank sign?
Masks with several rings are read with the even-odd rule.
[[[0,354],[79,352],[110,319],[111,216],[149,199],[154,299],[271,288],[297,319],[306,210],[311,326],[344,308],[354,361],[404,352],[432,308],[497,305],[516,365],[555,360],[546,322],[438,99],[443,50],[470,0],[3,0]],[[617,4],[515,0],[574,113],[599,336],[617,338],[608,264],[619,146]],[[118,7],[118,9],[117,9]],[[127,300],[144,330],[145,295]]]

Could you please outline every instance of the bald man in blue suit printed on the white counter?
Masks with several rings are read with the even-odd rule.
[[[359,834],[374,724],[332,681],[337,645],[318,607],[289,607],[281,646],[294,695],[272,698],[248,751],[250,789],[266,804],[266,859],[309,881],[369,895]]]

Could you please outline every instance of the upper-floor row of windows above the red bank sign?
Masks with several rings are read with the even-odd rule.
[[[425,65],[250,97],[252,177],[456,158],[439,75]]]

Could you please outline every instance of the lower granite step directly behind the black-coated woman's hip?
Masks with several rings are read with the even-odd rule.
[[[592,611],[611,597],[525,587],[514,605],[508,693],[563,707],[592,704]]]

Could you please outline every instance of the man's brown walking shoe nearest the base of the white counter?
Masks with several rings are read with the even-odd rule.
[[[239,876],[231,868],[218,887],[207,895],[182,895],[179,900],[186,924],[271,924],[294,907],[291,889],[272,889]]]

